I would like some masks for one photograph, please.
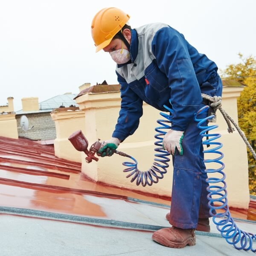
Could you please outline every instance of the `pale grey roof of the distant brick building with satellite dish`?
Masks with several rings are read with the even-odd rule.
[[[69,107],[70,105],[74,105],[78,107],[74,97],[77,94],[66,93],[58,96],[54,96],[51,99],[47,99],[43,102],[39,102],[39,111],[23,111],[22,109],[16,111],[16,115],[19,114],[27,114],[27,113],[41,113],[41,112],[51,112],[55,108],[59,108],[61,105],[65,107]]]

